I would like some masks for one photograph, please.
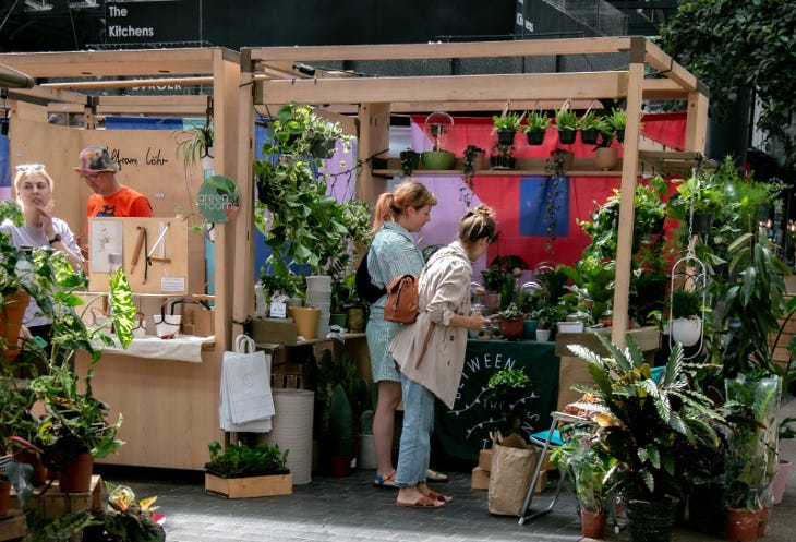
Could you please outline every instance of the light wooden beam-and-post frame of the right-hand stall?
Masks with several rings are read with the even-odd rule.
[[[460,60],[471,58],[506,58],[539,56],[593,56],[619,53],[627,59],[625,68],[611,71],[569,73],[489,73],[479,75],[352,77],[350,73],[323,73],[304,76],[292,70],[297,63],[313,65],[324,62],[389,61],[389,60]],[[650,68],[659,77],[644,76]],[[386,180],[374,174],[372,158],[387,158],[389,117],[393,113],[430,113],[433,111],[497,111],[510,100],[515,109],[558,107],[563,99],[589,103],[599,98],[626,99],[627,127],[624,142],[620,190],[634,194],[643,152],[640,130],[641,106],[647,99],[687,100],[685,153],[671,153],[673,160],[695,161],[704,152],[708,123],[708,89],[695,75],[680,67],[649,39],[640,36],[601,37],[550,40],[516,40],[486,43],[433,43],[400,45],[366,45],[339,47],[269,47],[241,50],[239,169],[248,170],[252,191],[251,166],[254,158],[253,121],[255,109],[288,101],[323,105],[327,109],[349,112],[359,121],[359,160],[363,164],[357,185],[357,196],[373,203],[384,191]],[[248,107],[251,106],[251,107]],[[246,152],[248,150],[248,152]],[[656,152],[655,160],[660,160]],[[632,201],[632,200],[631,200]],[[250,209],[251,210],[251,209]],[[634,207],[619,209],[618,253],[616,258],[616,291],[614,313],[627,315],[630,284],[630,246]],[[239,228],[253,224],[241,220]],[[250,234],[250,230],[245,233]],[[238,284],[249,285],[253,253],[246,264],[236,272]],[[241,292],[239,302],[252,299]],[[615,317],[612,340],[625,345],[627,316]]]

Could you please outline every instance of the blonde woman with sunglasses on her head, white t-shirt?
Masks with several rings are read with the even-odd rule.
[[[80,269],[83,265],[77,242],[65,221],[52,216],[52,178],[41,164],[16,166],[14,194],[25,215],[25,224],[17,227],[11,220],[3,220],[0,231],[10,236],[14,246],[50,246],[67,255],[67,262]],[[27,339],[40,337],[49,344],[51,320],[37,316],[39,308],[32,299],[25,310],[22,336]]]

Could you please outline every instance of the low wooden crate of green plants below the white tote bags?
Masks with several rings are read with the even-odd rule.
[[[290,450],[278,444],[230,444],[224,448],[214,441],[208,445],[205,463],[205,491],[228,498],[289,495],[292,477],[287,467]]]

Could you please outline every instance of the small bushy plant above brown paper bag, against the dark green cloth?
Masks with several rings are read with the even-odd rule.
[[[530,411],[533,383],[522,369],[503,369],[490,376],[484,400],[500,415],[498,430],[504,436],[517,433]]]

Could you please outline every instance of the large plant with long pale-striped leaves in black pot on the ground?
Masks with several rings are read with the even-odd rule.
[[[595,382],[576,386],[588,400],[574,407],[595,419],[602,427],[600,446],[617,460],[615,486],[627,499],[630,537],[636,540],[644,529],[655,529],[660,534],[655,540],[670,540],[687,468],[717,447],[715,426],[724,418],[695,385],[697,369],[683,363],[679,344],[655,382],[631,335],[624,350],[602,335],[596,338],[608,356],[569,346],[586,360]]]

